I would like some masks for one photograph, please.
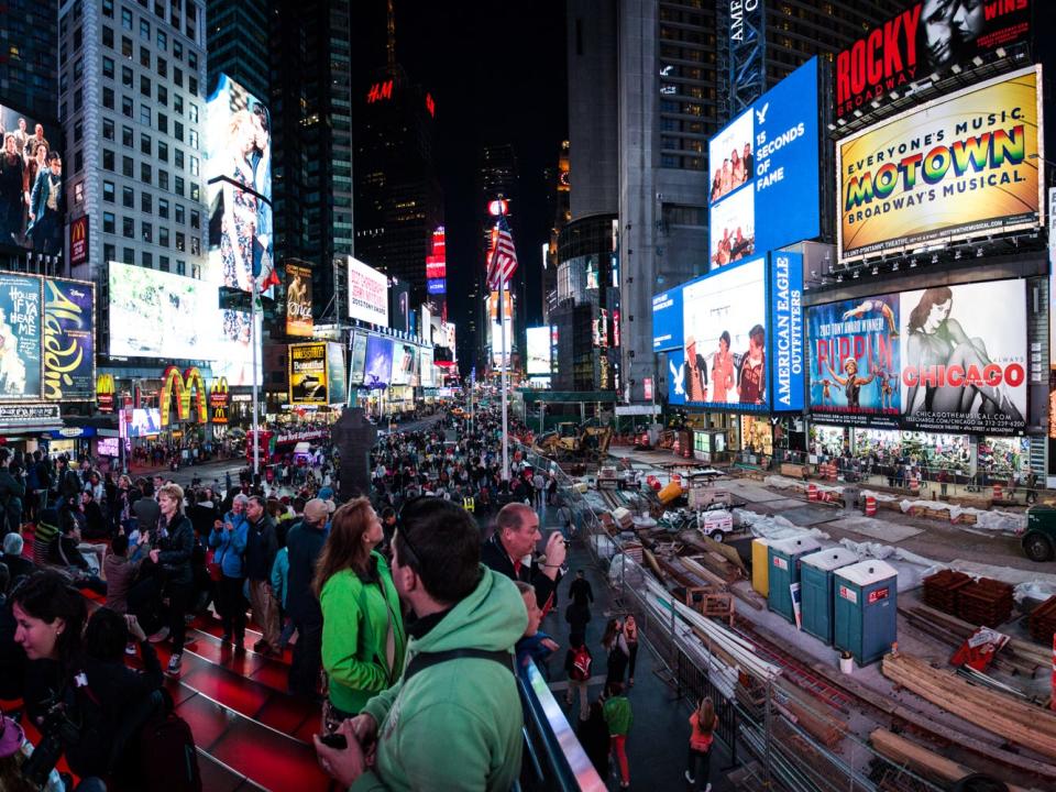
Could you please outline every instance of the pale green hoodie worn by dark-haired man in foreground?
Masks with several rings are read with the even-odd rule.
[[[419,652],[512,650],[528,626],[513,581],[481,566],[481,582],[421,638]],[[513,664],[513,653],[510,653]],[[458,658],[403,679],[363,712],[378,726],[377,760],[354,792],[509,792],[520,774],[524,716],[517,682],[494,660]]]

